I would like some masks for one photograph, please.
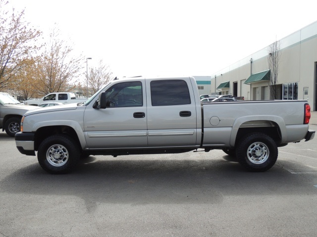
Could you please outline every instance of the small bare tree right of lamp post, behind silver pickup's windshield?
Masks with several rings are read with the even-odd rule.
[[[110,81],[112,73],[109,66],[99,61],[98,67],[91,68],[88,75],[88,88],[90,96],[100,90],[107,82]]]

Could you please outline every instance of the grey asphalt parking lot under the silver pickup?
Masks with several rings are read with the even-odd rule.
[[[317,130],[317,113],[310,128]],[[303,237],[317,233],[317,137],[246,172],[222,151],[91,156],[50,175],[0,132],[0,237]]]

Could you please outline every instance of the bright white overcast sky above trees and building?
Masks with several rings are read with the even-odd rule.
[[[88,67],[118,77],[211,76],[317,21],[317,1],[9,0]]]

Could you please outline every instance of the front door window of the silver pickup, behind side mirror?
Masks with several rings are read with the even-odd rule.
[[[117,83],[106,90],[110,107],[143,106],[141,81]]]

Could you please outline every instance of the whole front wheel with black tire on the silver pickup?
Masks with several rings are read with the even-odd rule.
[[[46,138],[38,150],[41,167],[51,174],[71,172],[80,158],[80,149],[69,136],[56,134]]]

